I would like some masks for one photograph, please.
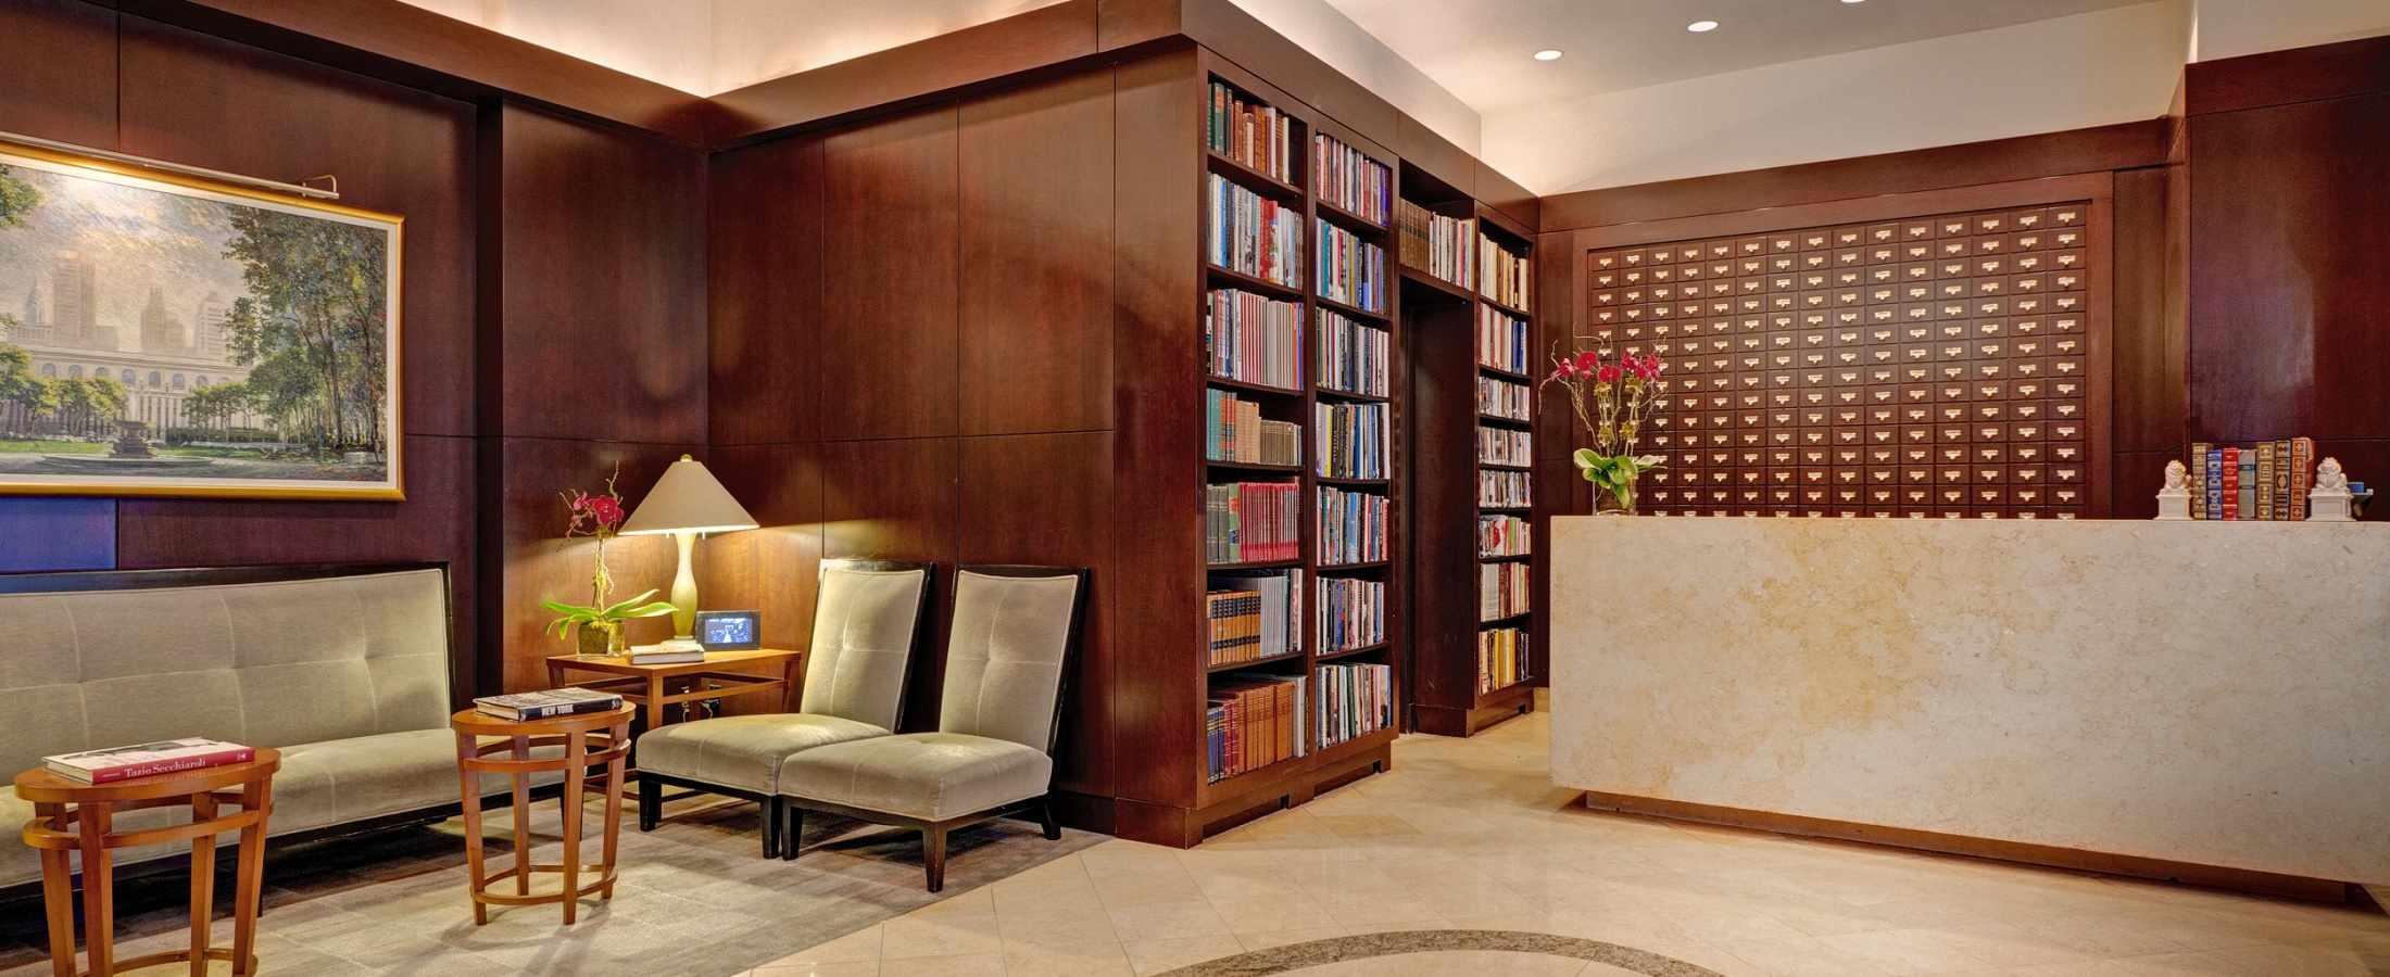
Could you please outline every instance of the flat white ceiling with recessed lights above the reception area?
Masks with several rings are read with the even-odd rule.
[[[1326,0],[1477,112],[2149,0]],[[2368,0],[2371,2],[2371,0]],[[1685,24],[1714,19],[1709,33]],[[1530,55],[1558,48],[1565,57]]]

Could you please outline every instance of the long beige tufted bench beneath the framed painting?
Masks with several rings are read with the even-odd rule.
[[[447,628],[440,569],[7,592],[0,776],[55,752],[213,736],[282,750],[272,836],[454,805]],[[41,877],[33,850],[17,843],[31,817],[14,791],[0,791],[0,886]],[[120,824],[151,819],[184,822],[189,810],[143,810]],[[179,853],[158,846],[117,858]]]

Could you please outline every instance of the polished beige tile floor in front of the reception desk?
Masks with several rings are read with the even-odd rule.
[[[1396,769],[1195,850],[1107,841],[750,977],[1152,975],[1389,929],[1527,929],[1723,975],[2368,975],[2373,910],[1597,815],[1546,776],[1544,714],[1408,736]],[[1415,953],[1307,975],[1613,975]]]

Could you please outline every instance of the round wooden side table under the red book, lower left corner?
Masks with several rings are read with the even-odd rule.
[[[186,769],[179,774],[136,776],[112,784],[84,784],[48,769],[17,774],[17,795],[33,805],[24,843],[41,850],[41,901],[50,913],[50,972],[74,977],[74,865],[84,855],[84,946],[93,977],[117,970],[191,963],[194,975],[208,972],[208,960],[232,963],[234,975],[258,972],[258,893],[265,870],[265,817],[275,810],[275,769],[282,752],[258,750],[244,764]],[[117,834],[115,817],[141,807],[191,807],[191,824]],[[225,815],[225,805],[239,812]],[[215,908],[215,836],[239,831],[239,872],[232,893],[232,946],[208,946]],[[117,960],[115,951],[115,850],[191,843],[191,948]]]

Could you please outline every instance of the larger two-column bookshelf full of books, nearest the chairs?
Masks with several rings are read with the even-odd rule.
[[[1391,743],[1401,726],[1398,650],[1405,647],[1405,592],[1401,511],[1403,487],[1403,437],[1401,430],[1401,330],[1393,303],[1393,229],[1391,229],[1391,167],[1393,153],[1358,139],[1331,119],[1298,105],[1269,84],[1250,76],[1236,64],[1197,55],[1202,84],[1200,153],[1202,189],[1197,198],[1197,222],[1202,239],[1202,299],[1197,320],[1202,327],[1202,375],[1190,377],[1202,389],[1207,404],[1233,397],[1248,420],[1271,425],[1295,425],[1295,456],[1271,459],[1221,459],[1217,440],[1207,430],[1202,444],[1205,483],[1205,549],[1188,554],[1200,559],[1205,604],[1188,607],[1185,616],[1200,626],[1197,655],[1188,664],[1195,674],[1190,683],[1169,681],[1171,688],[1188,688],[1193,695],[1183,707],[1195,714],[1195,738],[1176,750],[1185,750],[1190,762],[1157,757],[1162,776],[1183,779],[1193,798],[1193,810],[1164,812],[1166,836],[1195,843],[1207,829],[1233,824],[1238,815],[1274,810],[1310,800],[1326,784],[1341,784],[1391,767]],[[1221,146],[1221,107],[1228,107],[1236,139]],[[1260,122],[1257,122],[1260,119]],[[1276,122],[1283,119],[1283,122]],[[1252,153],[1248,134],[1264,124],[1279,124],[1269,150]],[[1331,143],[1322,143],[1331,141]],[[1367,167],[1384,167],[1386,189],[1374,198],[1362,193],[1369,186]],[[1224,217],[1219,203],[1236,201],[1245,210]],[[1279,220],[1293,220],[1293,229],[1281,229]],[[1255,256],[1255,234],[1269,239],[1267,256]],[[1293,244],[1286,248],[1286,244]],[[1372,251],[1377,268],[1372,270]],[[1291,268],[1281,265],[1291,263]],[[1221,301],[1221,294],[1231,301]],[[1291,337],[1257,339],[1267,346],[1267,370],[1221,370],[1214,349],[1221,344],[1221,308],[1257,308],[1264,303],[1276,313],[1293,313]],[[1252,339],[1250,334],[1240,334]],[[1291,342],[1286,342],[1291,339]],[[1250,349],[1250,342],[1238,346]],[[1291,351],[1293,375],[1279,370]],[[1331,356],[1334,354],[1334,356]],[[1255,363],[1255,358],[1240,358]],[[1219,411],[1205,411],[1205,425],[1217,423]],[[1324,432],[1348,432],[1341,442],[1329,442]],[[1212,537],[1219,530],[1221,511],[1212,504],[1219,485],[1264,485],[1260,497],[1288,497],[1293,521],[1293,552],[1271,552],[1267,559],[1224,559]],[[1384,533],[1348,533],[1346,526],[1326,526],[1322,506],[1350,499],[1355,511],[1391,509]],[[1281,511],[1271,511],[1281,514]],[[1238,533],[1248,533],[1248,516],[1233,516]],[[1353,526],[1358,521],[1348,521]],[[1341,554],[1326,552],[1331,542],[1348,542]],[[1269,583],[1283,580],[1283,583]],[[1252,588],[1250,595],[1248,590]],[[1286,597],[1274,597],[1281,588]],[[1379,590],[1377,614],[1355,614],[1329,621],[1331,592]],[[1248,595],[1240,602],[1231,595]],[[1231,600],[1231,612],[1257,616],[1236,619],[1226,643],[1243,643],[1224,650],[1221,631],[1214,626],[1214,602]],[[1300,600],[1300,612],[1276,600]],[[1288,619],[1291,616],[1291,619]],[[1260,623],[1255,623],[1260,621]],[[1271,633],[1271,621],[1286,621]],[[1334,623],[1334,626],[1331,626]],[[1260,638],[1252,638],[1260,633]],[[1300,635],[1300,647],[1291,638]],[[1262,647],[1245,652],[1243,647]],[[1245,657],[1221,662],[1221,657]],[[1369,690],[1386,702],[1379,729],[1358,736],[1331,736],[1322,729],[1329,700],[1336,717],[1346,712],[1341,702],[1348,693],[1341,681],[1365,674],[1350,666],[1381,666],[1384,688]],[[1334,678],[1334,681],[1331,681]],[[1298,695],[1279,686],[1300,683]],[[1334,688],[1331,688],[1334,686]],[[1300,702],[1300,705],[1295,705]],[[1233,712],[1228,709],[1233,705]],[[1281,721],[1295,705],[1300,726]],[[1264,719],[1255,719],[1264,717]],[[1226,741],[1221,724],[1236,724],[1238,738]],[[1171,724],[1176,726],[1176,724]],[[1185,729],[1185,726],[1176,726]],[[1164,745],[1164,750],[1171,750]],[[1233,750],[1233,757],[1228,755]],[[1154,834],[1130,827],[1130,834]]]

